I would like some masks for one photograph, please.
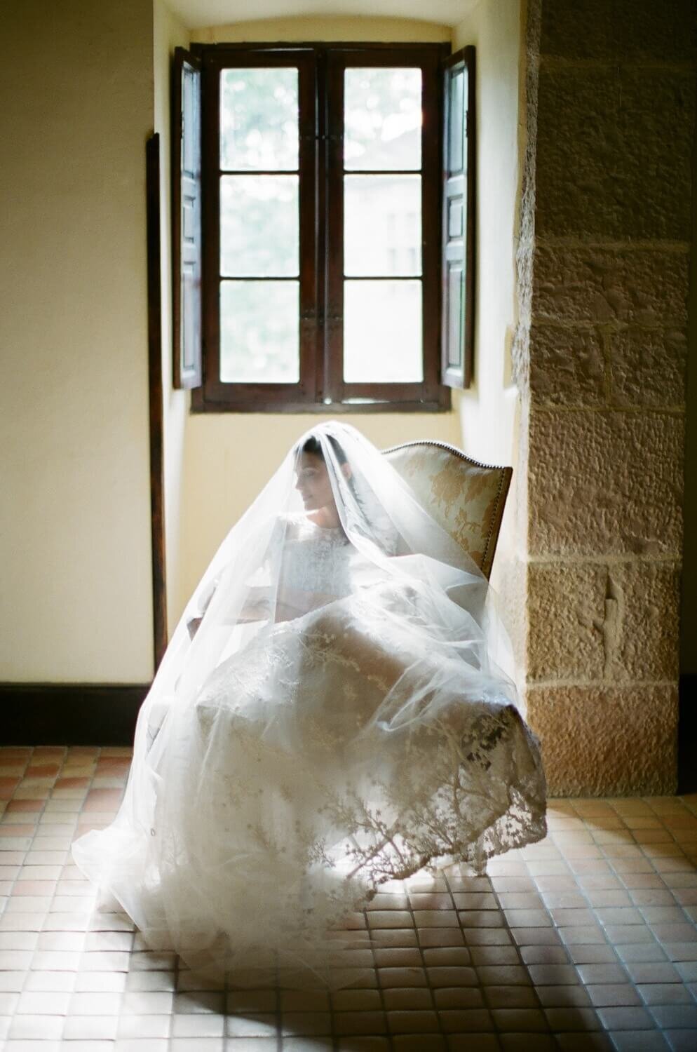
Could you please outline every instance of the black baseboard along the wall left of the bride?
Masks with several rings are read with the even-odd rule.
[[[0,745],[131,745],[149,684],[0,683]]]

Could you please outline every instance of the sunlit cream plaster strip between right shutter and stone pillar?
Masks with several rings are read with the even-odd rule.
[[[492,572],[521,683],[525,662],[525,471],[521,402],[512,380],[518,323],[515,250],[520,199],[524,12],[521,0],[481,0],[460,22],[453,50],[476,47],[477,207],[474,378],[458,393],[459,445],[475,460],[513,467]],[[521,695],[525,704],[525,694]]]

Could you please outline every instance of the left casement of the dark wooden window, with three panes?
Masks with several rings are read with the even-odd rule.
[[[198,409],[316,399],[322,311],[310,49],[212,47],[204,77],[204,383]]]

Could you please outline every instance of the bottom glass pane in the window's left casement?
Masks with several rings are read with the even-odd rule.
[[[224,281],[220,294],[223,383],[300,381],[300,284]]]

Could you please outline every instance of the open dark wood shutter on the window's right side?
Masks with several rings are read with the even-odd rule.
[[[474,361],[474,47],[445,62],[442,381],[469,387]]]

